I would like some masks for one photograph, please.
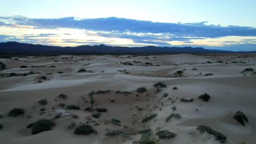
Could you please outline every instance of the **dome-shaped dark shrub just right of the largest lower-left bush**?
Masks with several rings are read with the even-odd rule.
[[[97,131],[91,127],[89,124],[82,124],[79,125],[77,128],[74,129],[75,135],[90,135],[90,134],[97,134]]]

